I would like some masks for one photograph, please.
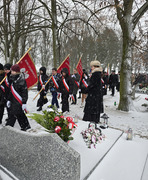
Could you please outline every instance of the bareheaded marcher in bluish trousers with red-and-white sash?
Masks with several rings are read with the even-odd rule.
[[[52,68],[52,76],[54,79],[51,79],[49,82],[49,89],[52,94],[51,104],[52,104],[52,106],[54,106],[54,104],[56,104],[56,107],[59,108],[59,103],[58,103],[58,99],[57,99],[57,91],[59,88],[58,86],[59,86],[59,81],[60,81],[61,75],[59,73],[57,73],[57,68]],[[57,84],[55,85],[54,83],[57,83]]]

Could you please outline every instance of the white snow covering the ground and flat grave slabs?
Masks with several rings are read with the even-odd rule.
[[[109,93],[108,93],[109,94]],[[29,113],[37,113],[36,102],[32,101],[36,95],[35,91],[29,91],[28,110]],[[82,130],[88,127],[88,122],[82,121],[83,108],[80,108],[81,100],[78,99],[77,105],[70,105],[68,116],[79,116],[78,127],[68,146],[72,147],[80,154],[81,158],[81,177],[80,179],[92,180],[146,180],[148,172],[148,104],[145,94],[136,94],[134,100],[135,111],[118,111],[119,93],[115,96],[104,96],[104,111],[109,116],[109,128],[102,130],[105,140],[97,144],[96,148],[87,148],[83,141]],[[51,95],[48,95],[49,102]],[[49,103],[50,104],[50,103]],[[47,105],[43,107],[43,110]],[[5,116],[3,118],[3,124]],[[34,120],[29,119],[33,134],[42,134],[44,129]],[[133,129],[134,137],[132,141],[126,140],[128,128]],[[20,129],[16,123],[16,129]],[[123,133],[123,134],[122,134]],[[28,132],[26,132],[28,134]],[[141,137],[141,138],[140,138]]]

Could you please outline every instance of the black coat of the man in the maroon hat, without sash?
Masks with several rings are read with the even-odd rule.
[[[10,82],[10,86],[13,85],[15,91],[21,96],[22,104],[26,104],[28,100],[28,89],[24,74],[11,75]],[[8,100],[11,102],[10,112],[12,114],[21,114],[22,105],[14,97],[12,91],[9,93]]]

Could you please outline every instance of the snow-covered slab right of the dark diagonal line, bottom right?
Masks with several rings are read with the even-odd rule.
[[[141,180],[147,154],[148,141],[123,134],[88,180]]]

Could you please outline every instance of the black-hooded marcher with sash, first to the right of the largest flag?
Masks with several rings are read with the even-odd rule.
[[[37,111],[41,111],[42,106],[48,102],[46,94],[47,94],[47,91],[49,89],[49,83],[45,86],[46,82],[48,81],[48,76],[46,74],[46,68],[41,67],[39,71],[40,71],[40,75],[38,77],[37,90],[40,91],[42,89],[42,87],[43,87],[43,90],[41,91],[40,97],[37,101],[37,107],[39,107],[37,109]]]

